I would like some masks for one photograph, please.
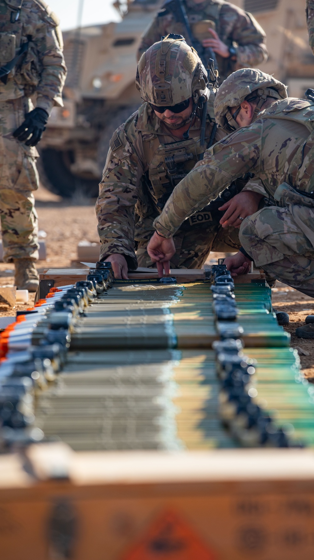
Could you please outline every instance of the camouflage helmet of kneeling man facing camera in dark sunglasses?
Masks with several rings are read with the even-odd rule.
[[[151,45],[142,54],[136,73],[136,88],[143,101],[173,106],[193,97],[209,98],[207,72],[195,49],[185,40],[170,39]]]

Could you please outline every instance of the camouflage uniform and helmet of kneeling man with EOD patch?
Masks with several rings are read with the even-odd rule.
[[[185,42],[175,41],[174,44],[174,41],[163,41],[163,44],[172,45],[172,48],[168,49],[169,57],[165,59],[164,83],[166,86],[173,80],[177,84],[178,87],[173,87],[172,91],[166,90],[166,95],[169,96],[166,104],[175,105],[191,96],[191,80],[195,73],[199,74],[202,82],[201,65],[196,66],[200,61]],[[158,82],[156,87],[162,85],[159,83],[160,76],[154,76],[155,69],[159,72],[159,53],[158,45],[154,45],[139,62],[137,84],[141,87],[144,99],[144,90],[153,95],[153,83]],[[151,68],[154,68],[153,82]],[[202,83],[203,91],[207,92],[209,98],[205,132],[207,146],[215,124],[215,93],[213,90],[207,90],[206,82]],[[154,95],[163,95],[164,90],[160,91]],[[162,100],[159,100],[158,105],[161,104]],[[189,138],[181,141],[171,136],[171,132],[157,118],[150,104],[145,102],[137,113],[131,115],[126,123],[116,130],[110,142],[96,205],[102,259],[118,253],[125,256],[129,269],[136,269],[137,265],[153,265],[146,245],[154,232],[154,218],[160,214],[175,184],[193,168],[199,154],[204,152],[204,147],[200,146],[200,129],[201,114],[198,109],[195,123],[189,131]],[[223,136],[225,133],[222,130],[216,132],[215,141]],[[187,154],[189,160],[180,164],[174,175],[170,175],[165,157],[182,153]],[[232,251],[240,247],[237,230],[224,230],[219,225],[220,216],[212,216],[211,212],[203,207],[191,220],[184,222],[175,235],[177,253],[172,260],[173,268],[201,268],[212,249]],[[135,242],[138,245],[137,254]]]

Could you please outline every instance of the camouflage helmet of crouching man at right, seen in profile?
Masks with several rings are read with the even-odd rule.
[[[218,126],[235,130],[239,128],[229,107],[238,107],[248,95],[256,94],[252,99],[258,99],[254,113],[259,113],[267,97],[285,99],[287,86],[273,76],[265,74],[256,68],[242,68],[230,74],[219,87],[214,102],[215,119]]]

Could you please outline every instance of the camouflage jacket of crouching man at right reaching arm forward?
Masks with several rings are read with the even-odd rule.
[[[278,197],[277,189],[283,183],[288,190],[289,185],[299,190],[291,189],[290,202],[314,204],[313,129],[314,106],[309,101],[288,97],[273,102],[249,127],[229,134],[205,153],[204,160],[176,186],[154,226],[170,237],[185,218],[247,172],[254,174],[254,180],[261,180],[269,197],[279,205],[287,203],[281,192]],[[310,151],[306,147],[309,139]],[[306,192],[312,198],[302,195]]]

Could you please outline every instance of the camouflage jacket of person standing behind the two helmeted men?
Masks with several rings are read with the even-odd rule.
[[[231,72],[239,68],[256,67],[267,60],[268,52],[265,45],[265,33],[254,17],[244,12],[234,4],[224,0],[207,0],[196,4],[193,0],[185,0],[185,8],[193,35],[199,41],[205,38],[203,30],[199,31],[202,21],[212,23],[211,27],[216,29],[218,36],[227,46],[234,46],[236,59],[222,58],[216,55],[220,83],[226,79]],[[172,7],[172,3],[166,2],[156,15],[149,29],[142,36],[138,57],[149,48],[149,46],[160,41],[161,36],[168,33],[179,33],[185,37],[187,33],[184,26],[178,21],[178,16]],[[210,32],[206,33],[210,38]],[[193,46],[193,45],[191,45]]]

